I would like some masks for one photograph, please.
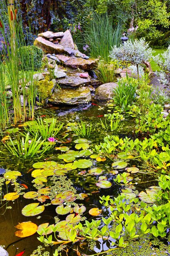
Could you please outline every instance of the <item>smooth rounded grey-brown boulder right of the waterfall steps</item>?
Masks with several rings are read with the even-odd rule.
[[[95,91],[95,99],[106,101],[113,98],[113,89],[117,88],[117,83],[104,83]]]

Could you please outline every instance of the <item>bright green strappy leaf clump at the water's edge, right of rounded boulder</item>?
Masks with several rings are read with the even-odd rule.
[[[128,110],[128,105],[131,105],[135,99],[135,91],[137,89],[136,79],[128,77],[119,79],[118,86],[113,90],[113,101],[116,106],[119,106],[122,111]]]

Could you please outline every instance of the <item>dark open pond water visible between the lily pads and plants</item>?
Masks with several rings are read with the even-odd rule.
[[[107,106],[104,104],[102,105],[93,103],[88,106],[82,106],[82,107],[75,107],[75,108],[46,108],[42,113],[40,114],[43,118],[49,118],[49,117],[56,117],[57,120],[64,122],[65,128],[62,129],[62,132],[64,134],[61,135],[60,143],[56,143],[57,147],[60,146],[68,146],[71,150],[75,149],[75,143],[73,142],[77,137],[73,137],[73,132],[70,132],[69,130],[69,123],[75,123],[77,121],[83,120],[87,124],[92,123],[93,132],[92,135],[88,138],[88,143],[90,144],[90,149],[95,148],[95,145],[98,145],[100,142],[103,142],[103,138],[110,134],[119,134],[120,137],[125,136],[131,136],[133,137],[133,127],[135,125],[134,121],[132,119],[126,119],[122,121],[122,124],[124,125],[123,128],[120,131],[117,132],[108,132],[104,131],[104,129],[101,128],[100,119],[104,119],[104,114],[109,113],[110,111],[113,112],[113,109],[110,110]],[[67,128],[66,128],[67,127]],[[100,128],[99,128],[100,127]],[[22,131],[22,127],[20,127]],[[68,144],[62,143],[62,141],[66,141],[66,138],[62,139],[62,137],[66,136],[72,137],[73,141],[71,141]],[[12,136],[11,136],[12,137]],[[22,173],[22,176],[17,178],[17,182],[19,184],[25,184],[28,186],[28,189],[24,188],[24,193],[28,191],[35,191],[35,187],[33,186],[32,180],[34,179],[31,176],[31,172],[34,170],[32,167],[35,162],[43,162],[43,161],[56,161],[60,164],[63,164],[62,159],[58,159],[58,155],[61,155],[60,150],[51,150],[46,155],[44,155],[41,159],[26,159],[21,160],[17,157],[9,154],[7,149],[1,144],[1,152],[0,153],[0,168],[9,169],[11,171],[19,171]],[[64,152],[65,153],[65,152]],[[94,154],[94,153],[93,153]],[[99,208],[102,209],[102,205],[99,203],[99,196],[102,195],[110,195],[110,197],[117,196],[118,193],[121,193],[122,186],[117,185],[113,178],[115,178],[115,175],[110,173],[110,170],[113,170],[111,167],[111,163],[113,160],[106,158],[106,161],[104,162],[97,162],[96,159],[91,159],[89,156],[86,156],[85,159],[90,159],[93,162],[93,168],[99,167],[102,168],[103,173],[102,175],[106,176],[108,181],[112,183],[112,186],[108,189],[100,189],[96,186],[96,182],[99,178],[99,175],[86,175],[87,170],[92,168],[81,168],[76,170],[68,171],[66,177],[71,180],[73,183],[73,187],[76,189],[76,193],[79,195],[80,193],[86,193],[88,194],[87,197],[84,200],[77,199],[75,202],[79,204],[84,204],[86,207],[86,211],[83,213],[83,217],[86,217],[88,220],[93,219],[101,219],[101,216],[90,216],[88,214],[88,211],[91,208]],[[136,173],[131,175],[133,180],[132,184],[136,187],[137,191],[144,190],[148,188],[151,185],[157,185],[157,181],[155,180],[155,177],[150,174],[145,174],[144,166],[141,166],[141,163],[136,160],[128,159],[128,166],[136,166],[140,169],[141,173]],[[65,163],[66,164],[66,163]],[[81,171],[86,170],[83,175],[81,175]],[[80,174],[79,174],[80,173]],[[2,177],[3,175],[0,175]],[[63,176],[60,176],[63,177]],[[64,176],[65,177],[65,176]],[[139,184],[139,183],[140,184]],[[9,182],[9,184],[1,184],[1,199],[6,193],[10,193],[14,191],[15,184],[12,182]],[[22,185],[21,185],[22,187]],[[56,205],[49,205],[45,207],[45,210],[43,213],[38,214],[38,216],[41,216],[41,218],[37,218],[37,216],[32,217],[26,217],[22,215],[21,211],[22,209],[27,205],[31,204],[34,201],[33,199],[26,199],[22,195],[20,195],[19,198],[17,198],[14,201],[1,201],[0,204],[0,245],[5,245],[5,249],[9,252],[10,256],[15,256],[19,252],[23,251],[25,249],[24,256],[30,256],[34,249],[37,248],[38,245],[40,245],[40,242],[37,239],[38,234],[35,233],[32,236],[26,237],[26,238],[19,238],[15,236],[15,231],[17,230],[15,228],[18,223],[21,222],[27,222],[31,221],[35,223],[36,225],[40,225],[42,223],[49,222],[49,224],[54,223],[54,217],[57,216],[57,213],[55,212]],[[49,203],[50,200],[47,200]],[[45,202],[45,204],[47,203]],[[41,204],[41,203],[40,203]],[[11,207],[11,209],[8,209],[7,207]],[[65,220],[65,215],[60,215],[60,220]],[[74,245],[69,245],[67,248],[69,249],[69,256],[75,256],[78,255],[73,249],[79,249],[79,252],[82,252],[87,255],[93,255],[94,253],[106,251],[110,248],[111,241],[102,241],[99,240],[96,245],[94,246],[94,249],[92,250],[91,246],[89,246],[86,243],[75,243]],[[55,251],[54,247],[46,247],[46,251],[50,252],[50,255],[53,255],[53,252]],[[67,255],[66,252],[62,252],[62,256]]]

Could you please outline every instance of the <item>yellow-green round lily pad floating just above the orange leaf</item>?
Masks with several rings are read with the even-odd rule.
[[[27,204],[23,209],[22,209],[22,215],[24,216],[35,216],[40,213],[42,213],[45,209],[44,205],[38,206],[39,203],[32,203],[32,204]]]

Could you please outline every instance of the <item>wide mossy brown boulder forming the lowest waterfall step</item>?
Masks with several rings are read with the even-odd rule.
[[[80,105],[91,101],[91,92],[86,87],[54,89],[49,103],[54,105]]]

